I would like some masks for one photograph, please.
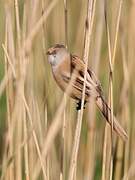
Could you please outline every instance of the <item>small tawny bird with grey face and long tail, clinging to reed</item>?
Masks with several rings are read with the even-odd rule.
[[[52,74],[56,83],[64,92],[67,92],[71,98],[76,100],[77,110],[80,110],[85,81],[85,62],[77,55],[71,54],[63,44],[53,45],[47,50],[46,54],[48,56],[48,61],[51,64]],[[72,81],[71,79],[73,76],[75,79]],[[71,90],[68,92],[66,90],[70,82]],[[100,81],[90,68],[87,68],[85,84],[84,105],[89,103],[89,99],[92,97],[106,121],[111,125],[111,108],[104,98]],[[113,130],[124,141],[128,139],[126,131],[119,124],[114,115]]]

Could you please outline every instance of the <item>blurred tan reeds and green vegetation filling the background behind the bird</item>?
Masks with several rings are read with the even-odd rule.
[[[133,180],[135,1],[92,2],[95,7],[92,6],[89,67],[100,79],[108,99],[106,10],[112,52],[118,36],[113,66],[113,110],[129,139],[124,143],[114,134],[112,142],[104,118],[94,105],[88,105],[84,110],[74,180]],[[56,43],[66,44],[71,53],[83,58],[87,6],[88,0],[0,0],[1,179],[69,180],[76,103],[65,98],[56,85],[46,51]],[[57,114],[64,98],[68,103]],[[62,128],[58,127],[51,139],[49,129],[52,125],[56,129],[57,125],[53,124],[56,119],[60,119]]]

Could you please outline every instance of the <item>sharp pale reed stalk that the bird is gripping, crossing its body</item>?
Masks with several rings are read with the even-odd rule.
[[[89,47],[91,41],[93,21],[94,21],[95,3],[96,1],[88,0],[88,9],[87,9],[87,17],[86,17],[86,34],[85,34],[85,42],[84,42],[84,57],[83,57],[85,62],[84,86],[82,92],[81,110],[78,112],[78,117],[77,117],[77,125],[76,125],[75,137],[74,137],[74,145],[72,149],[72,156],[70,160],[68,180],[73,180],[76,174],[75,169],[77,167],[77,155],[79,149],[82,118],[83,118],[83,106],[84,106],[85,88],[86,88],[85,82],[86,82],[86,73],[88,68]],[[93,4],[94,4],[94,8],[93,8]]]

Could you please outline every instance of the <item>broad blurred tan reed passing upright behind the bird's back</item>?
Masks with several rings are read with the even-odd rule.
[[[101,53],[101,43],[103,37],[103,20],[104,20],[104,4],[103,2],[97,3],[97,24],[95,31],[95,43],[93,48],[93,61],[92,68],[96,75],[99,74],[99,63],[100,63],[100,53]],[[95,49],[96,47],[96,49]],[[96,133],[96,107],[93,99],[90,99],[89,109],[88,109],[88,137],[87,137],[87,145],[86,145],[86,162],[85,162],[85,179],[93,179],[95,173],[96,166],[96,140],[98,138],[98,134]],[[97,137],[97,138],[96,138]]]

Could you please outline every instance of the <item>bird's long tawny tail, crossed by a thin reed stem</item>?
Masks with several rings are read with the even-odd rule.
[[[109,108],[103,97],[98,97],[96,100],[96,104],[106,118],[107,122],[111,125],[111,109]],[[113,129],[124,141],[127,140],[127,133],[115,117],[113,117]]]

